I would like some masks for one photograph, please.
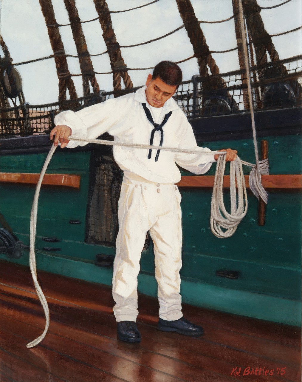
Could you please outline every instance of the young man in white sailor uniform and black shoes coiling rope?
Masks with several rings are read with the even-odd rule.
[[[54,144],[60,142],[62,148],[86,144],[69,141],[71,134],[91,139],[108,132],[115,142],[198,151],[198,154],[187,154],[113,146],[115,161],[124,172],[118,202],[113,312],[118,338],[125,342],[141,341],[136,326],[137,276],[147,231],[154,244],[160,306],[158,329],[190,336],[203,334],[202,327],[184,319],[181,312],[181,194],[175,183],[181,180],[177,165],[203,174],[218,155],[211,154],[208,148],[197,147],[191,125],[173,100],[181,81],[178,65],[160,62],[153,74],[148,75],[145,86],[135,93],[78,112],[61,112],[55,117],[56,127],[50,133],[50,139],[55,136]],[[236,159],[236,152],[227,149],[226,160]]]

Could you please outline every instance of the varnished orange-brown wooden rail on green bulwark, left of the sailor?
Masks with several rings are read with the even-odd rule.
[[[27,183],[36,185],[40,174],[0,172],[0,182]],[[45,174],[42,185],[65,186],[80,188],[80,175],[73,174]]]

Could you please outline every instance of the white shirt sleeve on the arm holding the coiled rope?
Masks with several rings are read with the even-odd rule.
[[[182,135],[180,137],[179,148],[183,149],[192,149],[199,151],[200,154],[187,154],[187,153],[177,153],[175,155],[175,162],[182,168],[200,175],[206,173],[213,162],[216,162],[214,159],[214,154],[205,154],[205,152],[212,152],[207,147],[198,147],[196,139],[193,133],[192,126],[187,121],[187,118],[184,116],[182,120]]]

